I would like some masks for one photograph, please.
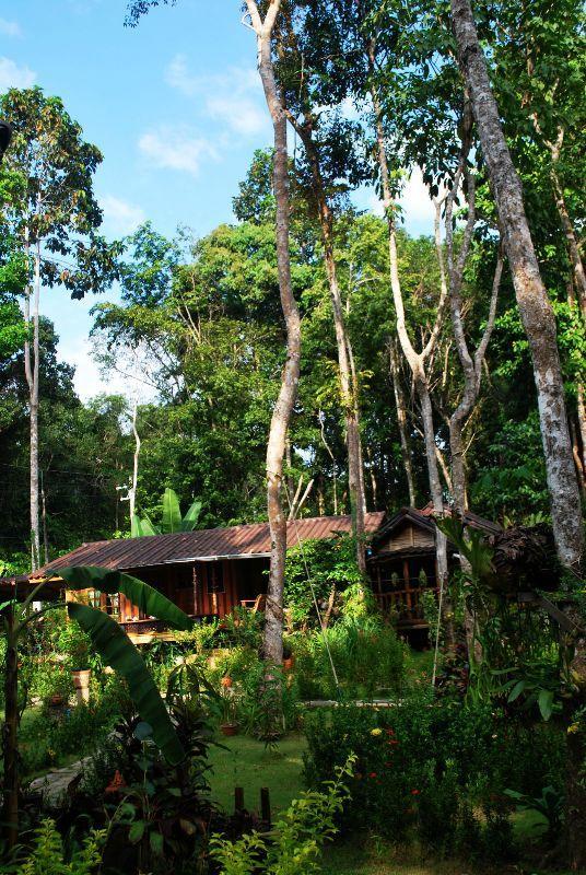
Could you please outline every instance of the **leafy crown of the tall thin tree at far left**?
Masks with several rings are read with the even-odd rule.
[[[102,211],[93,174],[102,162],[99,150],[83,140],[62,101],[45,96],[39,88],[9,89],[0,105],[14,128],[2,173],[16,173],[25,180],[22,196],[4,205],[14,248],[28,255],[27,245],[39,244],[44,252],[59,255],[40,257],[46,285],[60,283],[72,298],[104,291],[116,278],[119,246],[97,234]],[[68,268],[62,267],[63,258]]]

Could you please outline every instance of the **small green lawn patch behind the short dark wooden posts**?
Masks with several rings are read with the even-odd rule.
[[[226,749],[210,748],[210,784],[213,798],[228,813],[234,809],[235,786],[244,788],[245,805],[251,810],[260,806],[260,788],[268,786],[273,813],[288,808],[303,791],[302,735],[289,735],[274,750],[244,735],[221,737],[220,742]]]

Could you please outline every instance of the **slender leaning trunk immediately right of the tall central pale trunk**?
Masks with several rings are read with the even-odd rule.
[[[340,375],[340,393],[345,420],[345,442],[348,448],[348,488],[350,512],[352,514],[352,532],[356,540],[356,561],[363,574],[366,573],[366,550],[364,545],[364,476],[362,470],[362,444],[359,422],[359,401],[356,381],[352,374],[352,350],[342,306],[342,296],[338,282],[338,271],[333,255],[333,217],[328,206],[326,190],[319,166],[319,155],[313,139],[310,127],[301,125],[291,114],[291,124],[295,127],[312,167],[314,197],[317,205],[319,226],[324,243],[324,260],[333,312],[333,327],[338,348],[338,370]]]

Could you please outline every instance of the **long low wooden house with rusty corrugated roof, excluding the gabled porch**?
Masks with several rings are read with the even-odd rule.
[[[384,516],[366,514],[368,535],[380,527]],[[351,528],[350,516],[297,520],[288,524],[288,544],[330,538]],[[269,560],[269,525],[258,523],[83,544],[24,581],[58,575],[60,568],[98,565],[151,584],[194,618],[221,619],[236,606],[259,603],[267,590]],[[115,617],[137,643],[172,637],[161,621],[145,617],[124,595],[85,591],[82,596]]]

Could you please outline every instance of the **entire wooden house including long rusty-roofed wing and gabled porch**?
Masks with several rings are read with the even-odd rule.
[[[473,514],[468,514],[466,522],[487,533],[500,528]],[[436,590],[432,508],[402,508],[388,520],[384,512],[368,513],[365,523],[368,573],[380,608],[391,612],[405,631],[425,630],[421,593]],[[302,518],[288,524],[288,544],[292,547],[300,541],[327,539],[351,528],[350,516]],[[453,546],[448,553],[454,562]],[[24,593],[50,574],[54,576],[43,597],[58,598],[63,590],[59,569],[99,565],[127,572],[161,590],[194,618],[221,619],[237,606],[259,606],[267,588],[269,560],[268,523],[179,532],[83,544],[34,575],[2,581],[0,591],[3,595]],[[116,618],[137,643],[173,637],[160,620],[144,616],[124,595],[85,591],[82,597]]]

